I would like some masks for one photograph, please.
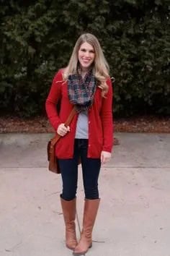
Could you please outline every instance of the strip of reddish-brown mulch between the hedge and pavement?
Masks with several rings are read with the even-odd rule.
[[[140,116],[126,119],[115,119],[115,132],[153,132],[170,133],[170,116]],[[38,116],[34,119],[21,119],[18,117],[0,117],[0,133],[54,132],[48,119]]]

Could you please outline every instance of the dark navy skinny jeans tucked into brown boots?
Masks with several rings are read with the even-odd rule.
[[[85,197],[99,198],[98,178],[101,161],[99,158],[87,158],[87,150],[88,140],[75,139],[73,158],[58,159],[63,181],[61,197],[64,200],[73,200],[76,197],[79,158],[81,158]]]

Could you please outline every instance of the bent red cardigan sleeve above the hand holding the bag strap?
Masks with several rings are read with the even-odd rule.
[[[48,115],[48,119],[50,124],[55,129],[58,129],[58,125],[61,124],[61,119],[58,116],[57,111],[57,103],[61,99],[61,85],[63,82],[62,71],[59,70],[55,77],[53,78],[53,82],[50,88],[50,93],[48,94],[48,98],[45,101],[45,109]]]

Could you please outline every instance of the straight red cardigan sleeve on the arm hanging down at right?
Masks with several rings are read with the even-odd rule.
[[[109,90],[106,98],[102,99],[102,129],[103,129],[103,151],[111,152],[113,146],[113,116],[112,116],[112,82],[110,79],[107,80]]]

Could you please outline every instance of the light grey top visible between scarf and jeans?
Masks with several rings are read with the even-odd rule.
[[[81,112],[78,116],[76,125],[76,139],[88,139],[88,114],[87,111]]]

